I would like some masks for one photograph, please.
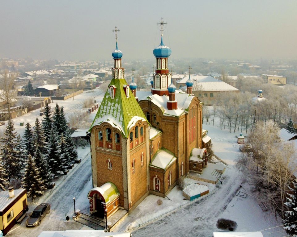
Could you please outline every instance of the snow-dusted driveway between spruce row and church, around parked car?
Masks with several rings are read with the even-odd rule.
[[[21,225],[15,225],[6,236],[36,237],[41,231],[77,230],[84,227],[82,224],[72,220],[67,222],[66,213],[68,213],[70,207],[73,206],[73,197],[78,197],[90,178],[91,156],[89,155],[67,180],[61,184],[56,192],[46,200],[46,202],[51,204],[51,212],[45,216],[40,226],[27,228],[25,221],[23,221]]]

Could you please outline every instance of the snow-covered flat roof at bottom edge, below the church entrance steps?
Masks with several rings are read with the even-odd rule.
[[[131,233],[104,232],[104,230],[42,231],[38,237],[131,237]]]

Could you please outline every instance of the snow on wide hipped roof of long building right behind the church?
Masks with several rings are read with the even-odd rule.
[[[202,88],[199,88],[196,86],[196,83],[198,85],[202,85]],[[239,89],[235,88],[234,86],[231,86],[223,81],[211,81],[211,82],[194,82],[193,85],[193,91],[195,91],[195,88],[199,88],[199,91],[240,91]],[[183,90],[186,90],[187,87],[184,86],[182,88]]]

